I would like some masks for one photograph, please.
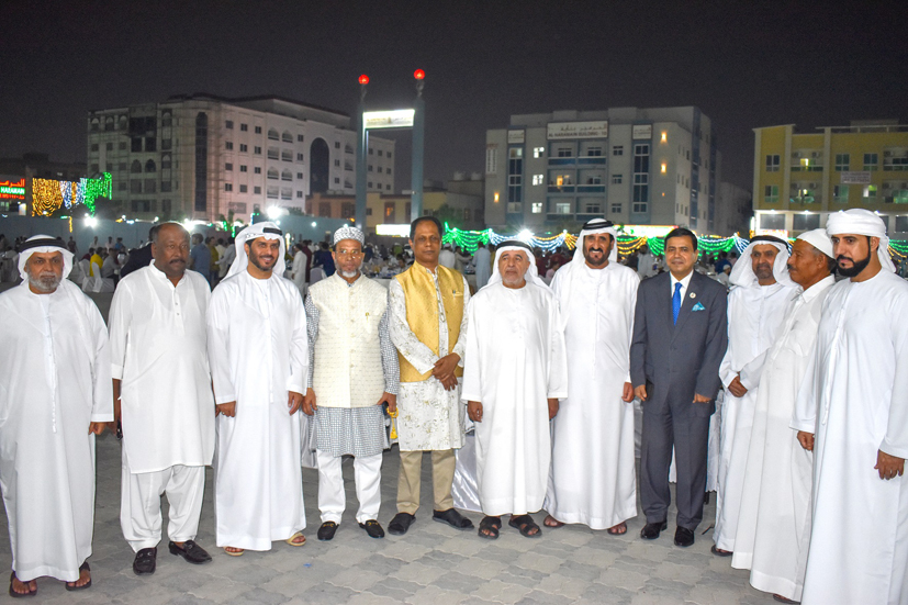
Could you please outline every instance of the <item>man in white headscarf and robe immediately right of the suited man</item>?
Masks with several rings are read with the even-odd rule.
[[[788,245],[771,235],[751,239],[729,276],[728,350],[719,367],[725,396],[721,414],[716,529],[713,553],[735,550],[741,490],[747,470],[756,386],[766,350],[775,340],[784,311],[797,291],[788,277]]]

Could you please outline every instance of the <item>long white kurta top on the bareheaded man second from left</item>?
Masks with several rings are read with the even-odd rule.
[[[110,311],[111,376],[121,380],[130,472],[203,467],[214,453],[214,396],[205,350],[205,278],[175,287],[154,265],[120,282]]]

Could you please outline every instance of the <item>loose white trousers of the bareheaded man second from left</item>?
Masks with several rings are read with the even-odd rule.
[[[120,526],[135,552],[160,541],[160,496],[167,492],[170,520],[167,535],[175,542],[195,538],[205,491],[205,468],[170,467],[157,472],[131,473],[123,448],[120,488]]]

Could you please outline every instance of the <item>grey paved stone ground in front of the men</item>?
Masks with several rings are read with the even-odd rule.
[[[396,448],[385,452],[380,522],[394,515]],[[629,522],[627,535],[614,537],[580,526],[543,529],[538,539],[522,537],[505,525],[497,540],[483,540],[475,530],[457,531],[433,523],[431,482],[424,461],[423,502],[406,536],[369,538],[356,524],[352,466],[344,464],[348,509],[333,541],[315,537],[317,477],[303,470],[309,542],[292,548],[274,542],[269,552],[247,551],[227,557],[214,546],[211,470],[197,541],[214,557],[190,565],[158,547],[157,572],[133,574],[133,552],[120,530],[120,446],[105,433],[98,441],[98,496],[94,554],[89,559],[93,585],[66,592],[64,584],[40,579],[38,594],[29,603],[91,604],[348,604],[411,605],[517,603],[576,604],[769,604],[772,597],[748,584],[748,573],[732,570],[728,559],[709,552],[711,530],[688,549],[672,544],[674,525],[655,541],[639,537],[643,519]],[[429,490],[426,490],[429,488]],[[715,500],[715,498],[714,498]],[[166,508],[166,506],[165,506]],[[707,506],[707,519],[715,507]],[[480,515],[471,514],[479,524]],[[543,514],[536,515],[541,525]],[[670,519],[674,518],[674,511]],[[704,523],[708,526],[709,523]],[[165,522],[166,529],[166,522]],[[0,569],[11,564],[5,518],[0,529]],[[5,578],[4,578],[5,580]],[[5,590],[0,600],[11,602]]]

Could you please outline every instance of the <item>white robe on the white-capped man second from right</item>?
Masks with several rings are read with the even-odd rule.
[[[832,276],[795,294],[766,354],[756,395],[731,567],[754,589],[800,601],[810,538],[814,455],[789,425]]]

